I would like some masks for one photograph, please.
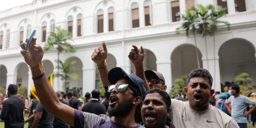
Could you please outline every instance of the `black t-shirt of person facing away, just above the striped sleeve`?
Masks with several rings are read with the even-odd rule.
[[[82,109],[83,112],[94,113],[96,115],[106,114],[106,108],[97,100],[87,102]]]

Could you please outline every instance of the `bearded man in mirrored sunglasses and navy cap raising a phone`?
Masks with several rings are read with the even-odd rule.
[[[134,121],[137,106],[140,105],[146,94],[143,80],[133,74],[127,75],[121,68],[114,68],[109,72],[109,82],[117,86],[120,84],[118,90],[121,90],[118,91],[117,87],[113,88],[113,86],[113,89],[110,88],[109,90],[112,90],[109,107],[109,113],[113,116],[112,118],[104,114],[95,115],[73,109],[58,100],[52,86],[48,82],[42,66],[44,50],[40,45],[36,44],[36,40],[36,38],[32,38],[32,43],[27,51],[24,50],[26,43],[21,43],[22,50],[20,53],[30,66],[38,97],[47,112],[52,113],[75,128],[144,128]],[[125,86],[121,86],[122,84],[128,85],[125,88]]]

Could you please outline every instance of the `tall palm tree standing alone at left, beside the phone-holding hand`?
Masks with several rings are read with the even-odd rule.
[[[68,43],[68,40],[72,41],[72,33],[70,33],[68,30],[61,29],[61,27],[56,27],[56,31],[50,32],[50,35],[47,39],[47,43],[44,46],[44,51],[51,51],[54,47],[56,47],[58,52],[58,59],[57,59],[57,69],[59,73],[59,54],[63,51],[74,53],[75,48]],[[58,90],[59,90],[59,79],[58,80]]]

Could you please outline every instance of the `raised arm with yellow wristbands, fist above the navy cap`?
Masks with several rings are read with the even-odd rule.
[[[110,85],[108,79],[109,68],[108,65],[104,66],[106,58],[108,55],[108,49],[106,48],[106,43],[103,41],[102,46],[96,48],[91,55],[91,60],[93,60],[97,67],[99,67],[100,79],[104,85],[104,87],[108,87]]]

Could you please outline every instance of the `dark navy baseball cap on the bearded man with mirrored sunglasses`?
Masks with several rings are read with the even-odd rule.
[[[116,81],[122,78],[129,79],[134,85],[137,85],[140,90],[140,95],[142,101],[145,99],[146,96],[146,89],[144,87],[144,81],[134,74],[127,74],[122,68],[116,67],[109,71],[108,79],[111,84],[115,84]]]

